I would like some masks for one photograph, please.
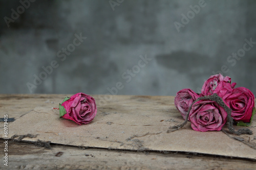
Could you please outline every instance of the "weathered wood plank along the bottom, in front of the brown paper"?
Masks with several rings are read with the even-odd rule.
[[[0,145],[0,155],[3,149]],[[179,152],[82,150],[65,145],[48,150],[23,142],[9,142],[8,155],[8,169],[255,169],[256,164],[248,159]],[[0,167],[4,169],[3,162]]]

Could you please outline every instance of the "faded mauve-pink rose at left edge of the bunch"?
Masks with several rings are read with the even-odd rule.
[[[199,94],[191,89],[182,89],[177,92],[174,104],[184,119],[186,118],[189,107],[197,98],[199,98]]]

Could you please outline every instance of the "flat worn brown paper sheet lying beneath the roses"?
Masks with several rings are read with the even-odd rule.
[[[37,106],[10,124],[9,137],[38,134],[35,138],[23,140],[40,139],[84,147],[181,151],[256,159],[255,118],[249,127],[253,135],[241,135],[238,138],[240,141],[222,131],[194,131],[190,123],[178,131],[166,133],[170,126],[183,122],[174,106],[174,96],[113,95],[104,105],[97,103],[98,95],[93,97],[98,112],[90,124],[79,126],[59,118],[58,110],[51,109],[51,106]]]

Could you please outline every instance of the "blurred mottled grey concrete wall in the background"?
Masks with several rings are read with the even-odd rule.
[[[0,93],[256,93],[255,1],[30,1],[0,0]]]

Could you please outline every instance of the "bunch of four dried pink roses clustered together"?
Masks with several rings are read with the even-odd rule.
[[[230,77],[221,74],[210,76],[201,89],[201,94],[191,89],[182,89],[177,92],[175,106],[185,119],[190,106],[201,96],[217,93],[224,103],[232,109],[231,116],[235,121],[250,122],[254,107],[254,95],[245,88],[234,88]],[[196,131],[220,131],[227,122],[227,112],[217,102],[200,100],[191,106],[188,113],[191,128]]]

